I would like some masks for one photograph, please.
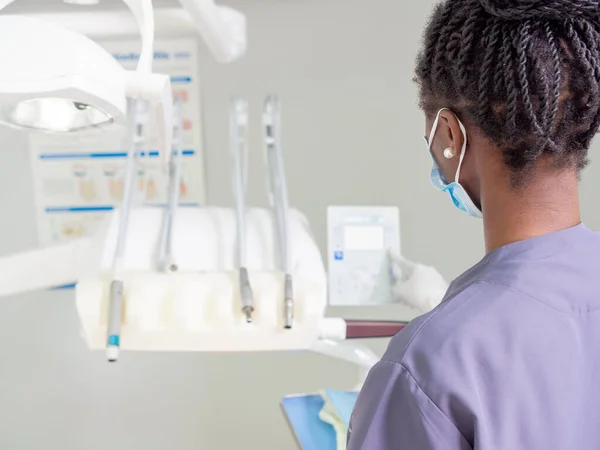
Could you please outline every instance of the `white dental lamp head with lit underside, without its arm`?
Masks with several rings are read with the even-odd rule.
[[[0,122],[47,133],[110,125],[127,113],[124,70],[98,44],[49,22],[0,16]]]

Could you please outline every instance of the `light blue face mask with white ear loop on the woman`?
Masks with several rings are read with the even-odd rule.
[[[437,130],[437,125],[440,120],[440,113],[442,111],[444,111],[445,109],[447,109],[447,108],[442,108],[438,111],[435,121],[433,122],[433,126],[431,127],[431,133],[429,134],[429,140],[427,140],[427,138],[425,138],[425,144],[427,145],[427,149],[429,150],[429,154],[431,155],[431,159],[433,162],[433,165],[431,167],[431,172],[429,174],[429,179],[431,180],[431,184],[433,184],[433,186],[435,188],[439,189],[442,192],[448,193],[448,195],[450,196],[450,199],[452,200],[452,203],[454,203],[454,206],[456,206],[461,211],[466,212],[471,217],[481,219],[483,217],[481,210],[477,206],[475,206],[475,203],[473,203],[473,200],[471,200],[471,197],[469,197],[469,194],[467,194],[467,191],[462,186],[462,184],[460,184],[460,181],[459,181],[460,168],[462,166],[462,162],[465,157],[465,150],[467,149],[467,132],[465,130],[464,125],[458,119],[458,117],[456,118],[456,120],[458,120],[458,125],[460,126],[460,131],[463,134],[463,145],[462,145],[462,149],[460,151],[460,159],[458,161],[458,168],[456,169],[456,175],[455,175],[454,181],[452,183],[448,183],[446,181],[446,179],[444,178],[444,175],[442,175],[440,168],[438,167],[437,163],[435,162],[433,153],[431,152],[430,142],[433,142],[433,138],[434,138],[435,132]]]

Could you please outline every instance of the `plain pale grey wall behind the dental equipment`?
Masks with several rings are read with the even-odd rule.
[[[210,201],[231,204],[227,101],[238,93],[255,120],[249,195],[265,203],[258,116],[276,93],[290,195],[322,248],[327,205],[391,204],[401,208],[407,256],[448,278],[476,262],[481,224],[430,187],[415,106],[412,67],[432,1],[237,3],[248,14],[247,57],[233,66],[202,61]],[[36,242],[25,145],[0,133],[0,254]],[[585,218],[596,227],[599,173],[592,166],[583,183]],[[394,310],[332,311],[340,313],[391,318]],[[0,450],[293,449],[281,397],[348,388],[356,375],[304,353],[125,354],[109,365],[79,338],[71,292],[1,299],[0,355]]]

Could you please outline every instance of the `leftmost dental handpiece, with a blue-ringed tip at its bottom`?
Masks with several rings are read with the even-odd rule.
[[[119,359],[121,348],[121,324],[123,321],[123,289],[121,270],[127,242],[127,228],[129,226],[129,212],[133,203],[133,188],[137,170],[138,151],[142,141],[142,126],[145,104],[133,101],[130,109],[129,133],[131,141],[127,154],[125,182],[123,187],[123,203],[119,213],[119,229],[117,245],[113,260],[113,279],[110,284],[108,302],[108,321],[106,329],[106,357],[109,362]]]

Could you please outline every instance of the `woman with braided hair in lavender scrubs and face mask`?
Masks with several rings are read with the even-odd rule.
[[[349,450],[600,448],[600,236],[578,201],[599,14],[596,0],[435,9],[416,68],[431,180],[483,219],[487,254],[392,340]]]

